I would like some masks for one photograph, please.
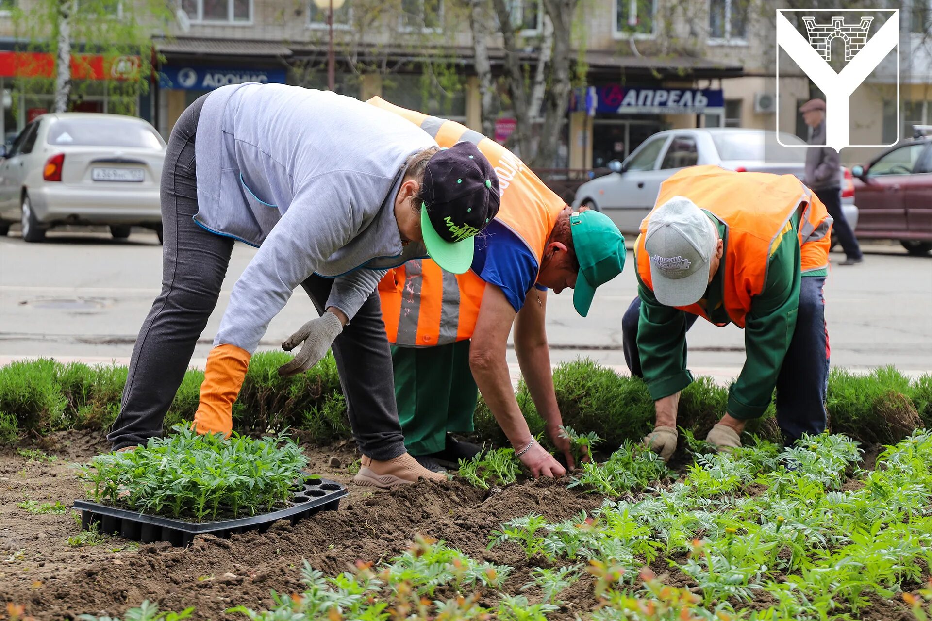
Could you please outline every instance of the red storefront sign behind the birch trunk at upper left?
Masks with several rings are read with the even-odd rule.
[[[71,57],[75,80],[125,80],[138,76],[138,56],[104,57],[81,54]],[[54,77],[55,57],[47,52],[0,51],[0,77]]]

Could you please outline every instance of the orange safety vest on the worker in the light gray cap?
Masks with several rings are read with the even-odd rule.
[[[801,212],[798,234],[802,272],[829,265],[831,217],[812,190],[792,175],[695,166],[680,170],[661,184],[653,210],[673,196],[686,196],[727,227],[728,243],[722,258],[723,304],[728,317],[739,328],[745,327],[751,301],[763,290],[768,260],[797,211]],[[641,222],[635,242],[637,275],[651,290],[651,261],[644,250],[644,236],[653,210]],[[700,304],[678,308],[708,319]]]

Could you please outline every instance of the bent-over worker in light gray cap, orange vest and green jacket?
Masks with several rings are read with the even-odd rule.
[[[831,217],[792,175],[683,169],[660,188],[635,244],[637,298],[622,319],[624,358],[656,405],[645,443],[677,448],[679,392],[690,385],[686,331],[696,317],[745,331],[745,366],[707,440],[741,446],[770,405],[789,443],[825,430],[829,333],[822,286]]]

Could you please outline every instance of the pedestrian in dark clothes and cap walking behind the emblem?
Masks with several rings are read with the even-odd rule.
[[[802,120],[813,128],[809,143],[821,146],[820,149],[806,149],[806,178],[808,185],[829,211],[834,224],[832,235],[837,236],[846,255],[843,265],[855,265],[864,261],[857,237],[842,211],[842,178],[839,172],[841,164],[838,152],[825,146],[825,101],[809,100],[800,106]]]

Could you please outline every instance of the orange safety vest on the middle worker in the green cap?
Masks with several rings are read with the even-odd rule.
[[[541,264],[556,218],[567,205],[524,162],[498,142],[455,121],[406,110],[379,97],[367,103],[404,116],[441,147],[475,143],[499,175],[501,203],[496,220],[511,229]],[[476,240],[483,243],[480,237]],[[456,276],[430,259],[389,270],[378,284],[389,342],[431,347],[472,338],[485,290],[486,282],[472,271]]]

